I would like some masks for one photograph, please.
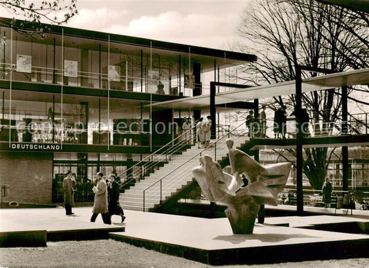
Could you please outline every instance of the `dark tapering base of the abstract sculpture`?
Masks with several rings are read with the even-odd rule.
[[[260,204],[256,204],[255,202],[242,203],[239,206],[228,206],[225,213],[231,223],[233,233],[253,233],[253,227],[255,226],[259,209]]]

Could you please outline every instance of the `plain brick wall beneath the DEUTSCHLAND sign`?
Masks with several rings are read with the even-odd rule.
[[[0,152],[0,184],[8,186],[3,202],[51,204],[53,153]]]

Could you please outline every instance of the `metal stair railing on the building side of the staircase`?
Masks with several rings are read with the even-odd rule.
[[[126,175],[125,180],[123,181],[123,183],[120,184],[120,188],[123,188],[126,184],[130,182],[130,179],[134,177],[133,171],[135,167],[137,166],[140,167],[140,173],[138,174],[138,177],[141,179],[146,171],[153,169],[154,166],[156,166],[157,162],[160,162],[164,159],[165,159],[165,162],[168,162],[168,157],[170,159],[170,156],[172,154],[177,153],[177,151],[183,149],[184,146],[188,145],[188,142],[192,144],[192,142],[194,141],[195,128],[196,126],[188,129],[187,131],[183,132],[181,135],[176,137],[174,140],[171,140],[167,144],[161,146],[161,148],[154,151],[154,153],[147,155],[147,157],[145,157],[140,162],[134,164],[126,171],[118,174],[118,176],[121,176],[124,173],[126,174],[132,173],[132,175]],[[175,144],[175,145],[173,146],[172,144]],[[168,148],[165,150],[166,147]]]

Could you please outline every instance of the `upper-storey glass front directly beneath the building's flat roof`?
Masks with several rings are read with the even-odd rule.
[[[190,53],[127,43],[47,34],[26,37],[1,28],[2,79],[164,95],[192,95]],[[189,64],[190,62],[190,64]],[[187,76],[188,75],[188,76]],[[11,76],[11,77],[10,77]]]

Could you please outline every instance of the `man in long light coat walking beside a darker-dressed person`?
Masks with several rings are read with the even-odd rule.
[[[96,186],[93,186],[93,193],[95,193],[95,200],[93,200],[93,209],[91,222],[95,222],[98,214],[101,213],[102,221],[105,224],[111,224],[109,212],[107,210],[107,183],[102,178],[102,172],[96,173]]]

